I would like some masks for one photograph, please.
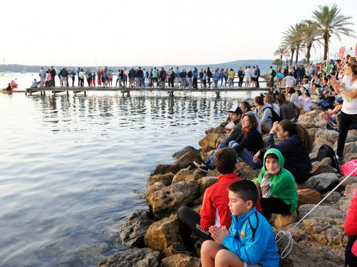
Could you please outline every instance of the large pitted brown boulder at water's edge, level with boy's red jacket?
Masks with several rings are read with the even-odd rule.
[[[197,181],[181,181],[161,188],[146,196],[146,203],[155,218],[163,218],[176,212],[179,207],[192,203],[198,195]]]

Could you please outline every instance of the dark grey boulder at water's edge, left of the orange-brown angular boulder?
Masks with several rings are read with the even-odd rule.
[[[140,209],[131,214],[126,223],[120,227],[119,234],[122,242],[126,246],[143,248],[143,233],[154,223],[152,215],[145,209]]]

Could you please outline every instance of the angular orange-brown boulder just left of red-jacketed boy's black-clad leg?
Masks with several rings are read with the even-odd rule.
[[[163,218],[150,225],[144,237],[145,244],[152,249],[166,253],[172,244],[178,242],[178,231],[179,225],[176,214]]]

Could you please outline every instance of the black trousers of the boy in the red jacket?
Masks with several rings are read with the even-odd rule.
[[[200,227],[200,214],[193,209],[183,206],[177,211],[179,221],[179,233],[183,245],[187,248],[194,248],[194,242],[191,239],[191,233],[194,231],[203,240],[212,240],[209,231],[203,231]]]

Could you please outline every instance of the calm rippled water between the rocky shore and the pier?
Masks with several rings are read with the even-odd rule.
[[[34,77],[0,77],[0,86]],[[124,249],[117,232],[146,207],[154,167],[199,148],[231,105],[257,94],[0,94],[0,266],[97,266]]]

